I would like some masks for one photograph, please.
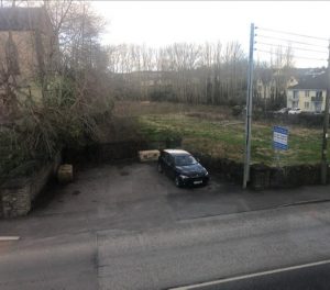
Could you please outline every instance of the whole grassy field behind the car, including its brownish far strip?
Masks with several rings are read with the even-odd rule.
[[[243,160],[244,123],[228,107],[160,102],[117,102],[114,115],[133,118],[136,133],[150,141],[180,136],[187,150]],[[253,122],[252,163],[276,165],[273,125]],[[321,127],[321,125],[320,125]],[[322,131],[292,125],[289,149],[280,152],[280,166],[320,163]],[[120,130],[121,131],[121,130]],[[121,131],[122,132],[122,131]],[[328,156],[330,159],[330,154]]]

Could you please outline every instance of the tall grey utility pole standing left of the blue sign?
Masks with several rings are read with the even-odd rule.
[[[248,181],[250,180],[251,118],[252,118],[252,97],[253,97],[253,52],[254,52],[254,23],[251,23],[249,69],[248,69],[248,93],[246,93],[246,116],[245,116],[245,152],[244,152],[243,188],[246,188]]]

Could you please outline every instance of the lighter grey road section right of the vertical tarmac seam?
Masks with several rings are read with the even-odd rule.
[[[330,257],[329,204],[99,233],[101,289],[167,289]]]

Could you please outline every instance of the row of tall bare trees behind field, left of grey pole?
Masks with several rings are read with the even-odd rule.
[[[174,43],[158,49],[122,44],[109,48],[109,57],[112,71],[124,74],[127,88],[135,91],[128,96],[142,99],[154,96],[157,100],[195,103],[237,102],[246,81],[245,55],[237,42],[229,43],[224,53],[220,42]]]

